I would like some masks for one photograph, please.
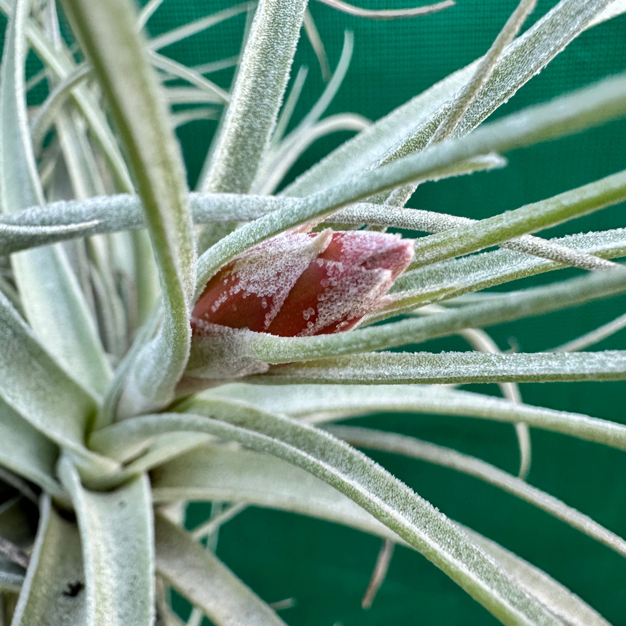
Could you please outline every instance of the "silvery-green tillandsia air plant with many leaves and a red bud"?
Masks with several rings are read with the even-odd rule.
[[[453,4],[323,1],[386,19]],[[540,353],[502,354],[481,330],[626,293],[612,260],[626,255],[623,228],[531,234],[624,202],[626,172],[478,221],[404,208],[422,182],[502,168],[510,151],[626,116],[621,74],[482,125],[626,3],[560,0],[520,35],[535,9],[521,0],[483,57],[374,123],[322,118],[352,36],[331,74],[305,0],[247,2],[148,38],[160,4],[0,0],[0,622],[170,626],[182,623],[175,590],[194,607],[188,623],[282,624],[201,541],[255,505],[382,538],[364,606],[399,543],[508,626],[607,625],[353,446],[475,476],[626,557],[623,538],[525,481],[529,427],[626,451],[626,426],[524,404],[517,386],[626,379],[626,352],[581,351],[623,317]],[[240,13],[237,58],[192,68],[160,53]],[[304,71],[285,91],[300,31],[327,86],[294,125]],[[43,69],[27,82],[29,51]],[[209,77],[228,64],[227,91]],[[41,80],[48,96],[27,108]],[[190,193],[173,129],[207,118],[218,129]],[[281,188],[307,146],[338,130],[357,134]],[[485,291],[565,267],[585,271]],[[390,350],[454,335],[473,351]],[[470,382],[498,383],[504,398],[457,388]],[[376,411],[514,425],[519,476],[333,425]],[[218,512],[188,532],[192,500]]]

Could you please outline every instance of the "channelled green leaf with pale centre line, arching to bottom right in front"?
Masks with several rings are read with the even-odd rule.
[[[459,533],[433,506],[363,454],[322,431],[244,404],[196,401],[192,414],[126,420],[94,433],[101,451],[127,454],[167,431],[198,431],[234,439],[302,467],[346,494],[431,560],[507,625],[558,624]],[[215,418],[219,413],[220,420]]]

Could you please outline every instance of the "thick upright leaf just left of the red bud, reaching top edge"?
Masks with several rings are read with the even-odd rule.
[[[127,0],[67,0],[128,152],[160,271],[165,319],[138,355],[121,412],[162,406],[187,362],[195,249],[182,157]]]

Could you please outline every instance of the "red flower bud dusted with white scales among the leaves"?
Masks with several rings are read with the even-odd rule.
[[[213,276],[193,309],[194,332],[206,322],[282,337],[347,331],[384,304],[411,259],[413,242],[399,235],[277,235]]]

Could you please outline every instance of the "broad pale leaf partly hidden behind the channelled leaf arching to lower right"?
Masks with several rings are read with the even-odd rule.
[[[156,469],[153,478],[157,502],[215,499],[247,502],[344,524],[398,541],[395,533],[331,486],[267,454],[207,446]],[[608,626],[598,613],[546,573],[494,541],[464,526],[461,528],[568,625]]]

